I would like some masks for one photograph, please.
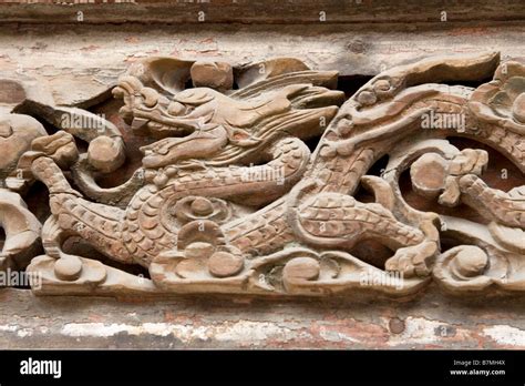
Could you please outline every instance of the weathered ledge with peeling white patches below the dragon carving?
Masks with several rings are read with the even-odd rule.
[[[429,288],[410,302],[163,302],[35,297],[0,290],[3,348],[525,348],[525,304]]]

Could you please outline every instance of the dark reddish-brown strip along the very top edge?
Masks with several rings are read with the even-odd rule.
[[[89,2],[89,3],[87,3]],[[430,0],[189,0],[189,1],[0,1],[1,22],[72,23],[76,12],[85,12],[85,23],[435,23],[441,12],[454,22],[512,21],[525,19],[518,0],[451,1]],[[103,12],[101,11],[103,9]],[[95,11],[87,13],[90,11]],[[199,20],[199,12],[205,13]]]

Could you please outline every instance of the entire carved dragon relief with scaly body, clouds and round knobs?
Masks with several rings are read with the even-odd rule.
[[[477,89],[450,85],[492,75]],[[437,58],[388,70],[347,101],[336,85],[336,72],[295,59],[233,68],[148,58],[113,89],[124,128],[25,100],[16,112],[58,131],[27,115],[0,121],[0,270],[27,267],[42,278],[33,287],[41,295],[402,296],[432,281],[453,293],[525,290],[525,186],[490,187],[488,153],[447,140],[488,145],[523,173],[525,65],[500,64],[494,53]],[[151,139],[140,167],[100,186],[140,136]],[[319,136],[310,153],[306,141]],[[467,205],[483,222],[412,207],[404,172],[415,194],[444,209]],[[37,180],[49,190],[43,226],[21,199]],[[68,253],[71,237],[107,261]],[[391,254],[379,264],[359,257],[368,246]]]

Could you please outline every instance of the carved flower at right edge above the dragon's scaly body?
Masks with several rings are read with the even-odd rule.
[[[502,63],[492,82],[477,88],[470,108],[477,118],[525,133],[525,65]]]

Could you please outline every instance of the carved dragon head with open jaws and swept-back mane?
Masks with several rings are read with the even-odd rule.
[[[196,87],[166,92],[128,73],[113,94],[123,99],[120,113],[135,133],[159,139],[143,148],[145,166],[161,167],[183,159],[224,165],[254,162],[262,148],[280,138],[308,139],[323,132],[344,94],[318,84],[337,74],[297,74],[297,80],[287,73],[240,90]]]

